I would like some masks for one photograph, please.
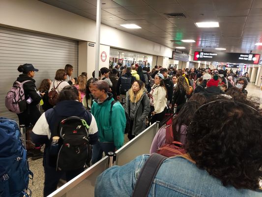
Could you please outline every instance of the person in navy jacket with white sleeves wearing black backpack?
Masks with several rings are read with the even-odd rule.
[[[62,175],[69,181],[84,171],[91,157],[89,145],[98,140],[94,117],[77,99],[76,87],[64,87],[56,107],[44,112],[33,128],[32,140],[45,144],[44,197],[57,189]]]

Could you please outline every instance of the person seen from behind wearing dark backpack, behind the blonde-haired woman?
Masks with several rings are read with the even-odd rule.
[[[126,67],[126,73],[119,77],[116,95],[120,102],[123,102],[123,98],[126,98],[126,92],[131,88],[132,83],[136,80],[136,77],[131,74],[131,67]]]

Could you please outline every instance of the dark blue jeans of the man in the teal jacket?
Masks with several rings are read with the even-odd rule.
[[[93,145],[92,149],[92,164],[95,164],[103,157],[103,152],[105,152],[106,155],[108,155],[108,152],[115,152],[115,144],[114,142],[100,142],[97,141],[96,144]]]

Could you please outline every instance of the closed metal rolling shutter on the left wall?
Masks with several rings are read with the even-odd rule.
[[[35,72],[36,87],[45,78],[54,80],[56,70],[66,64],[74,66],[78,75],[78,41],[0,27],[0,116],[17,119],[5,108],[5,95],[20,72],[19,65],[30,63]]]

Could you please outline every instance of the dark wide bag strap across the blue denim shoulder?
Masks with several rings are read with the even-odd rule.
[[[144,164],[141,173],[137,179],[132,197],[147,197],[154,181],[154,178],[161,166],[167,159],[162,155],[153,153]]]

